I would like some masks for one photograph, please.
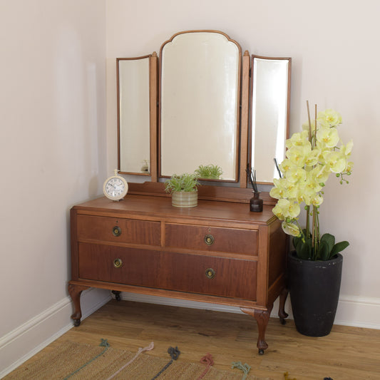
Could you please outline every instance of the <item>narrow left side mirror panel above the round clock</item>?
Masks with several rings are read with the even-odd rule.
[[[120,173],[150,174],[150,56],[117,58]]]

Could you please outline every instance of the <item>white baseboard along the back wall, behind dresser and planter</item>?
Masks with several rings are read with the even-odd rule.
[[[242,313],[239,307],[231,307],[221,304],[207,304],[205,302],[186,301],[184,299],[171,299],[155,297],[146,294],[133,294],[122,292],[121,299],[134,302],[146,302],[150,304],[165,304],[176,307],[190,307],[192,309],[207,309],[217,312]],[[289,297],[285,304],[285,311],[292,319],[292,307]],[[278,317],[278,299],[274,302],[271,317]],[[335,324],[352,327],[364,327],[368,329],[380,329],[380,299],[357,296],[341,296],[335,317]]]

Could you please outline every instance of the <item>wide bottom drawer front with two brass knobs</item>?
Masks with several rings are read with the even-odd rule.
[[[257,262],[79,243],[81,279],[256,300]]]

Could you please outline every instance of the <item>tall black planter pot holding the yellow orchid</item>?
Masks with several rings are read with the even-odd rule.
[[[297,331],[308,337],[331,332],[337,312],[343,257],[333,260],[299,259],[290,252],[288,286]]]

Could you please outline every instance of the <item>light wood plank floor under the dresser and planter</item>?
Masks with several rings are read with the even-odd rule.
[[[334,326],[327,337],[311,338],[299,334],[290,319],[284,326],[270,319],[269,348],[260,356],[257,324],[246,314],[140,302],[112,300],[44,350],[64,340],[98,345],[101,338],[133,352],[154,342],[155,349],[145,354],[161,357],[169,346],[178,346],[183,361],[199,361],[210,352],[215,368],[242,361],[252,366],[250,374],[274,380],[284,380],[285,371],[297,380],[380,379],[380,330]]]

